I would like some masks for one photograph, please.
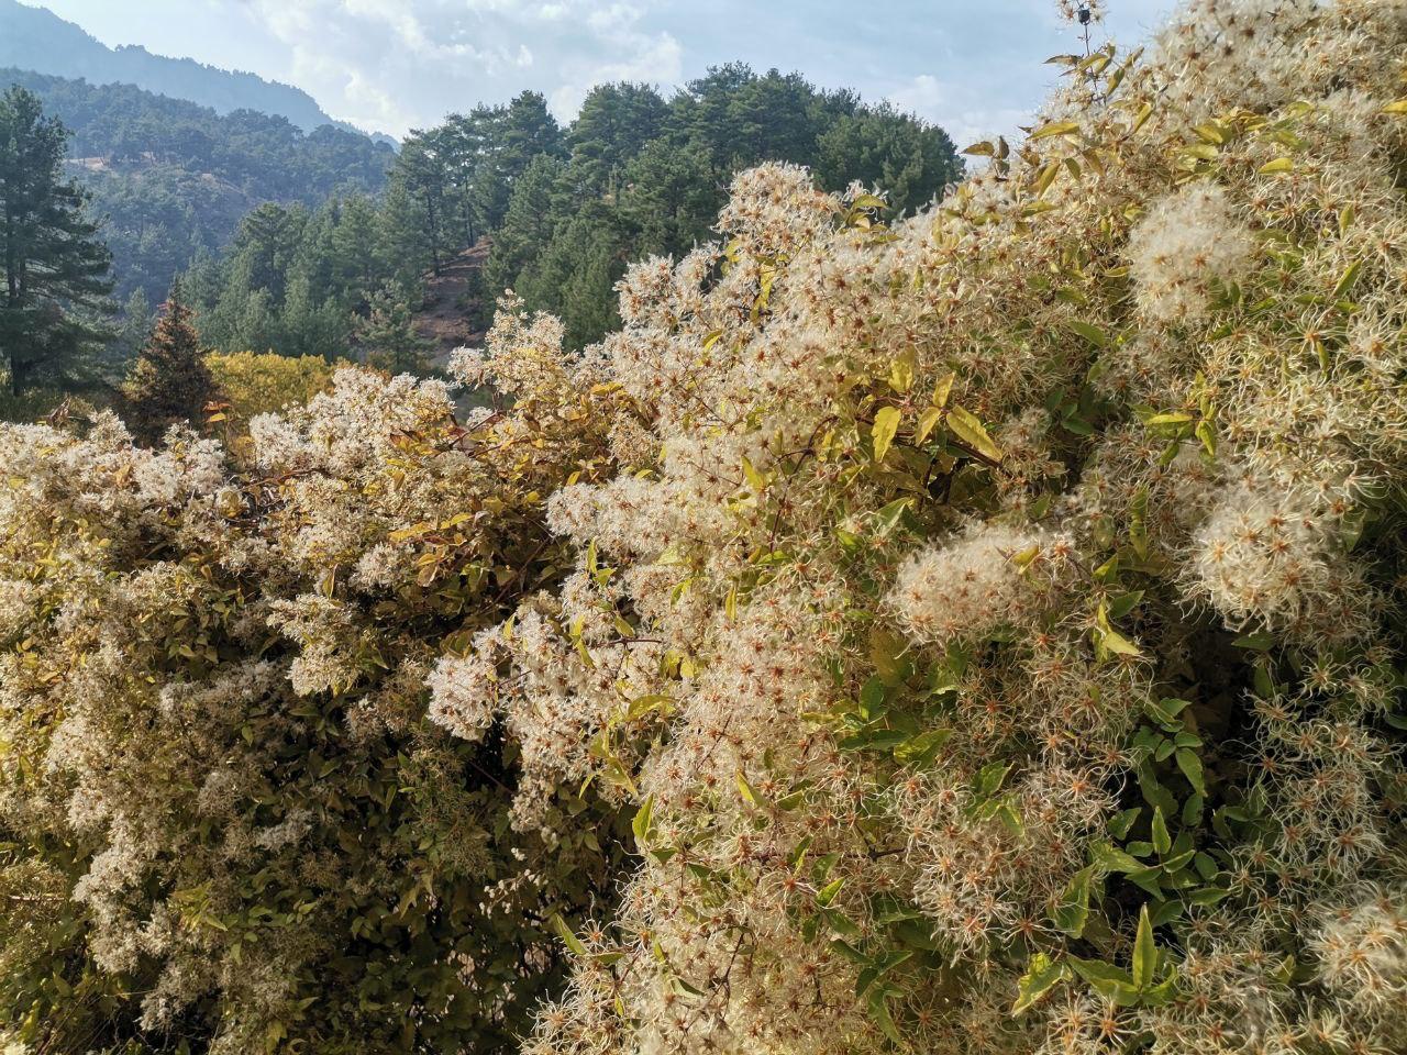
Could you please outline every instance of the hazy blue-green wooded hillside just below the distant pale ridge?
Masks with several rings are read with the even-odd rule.
[[[91,84],[20,69],[0,86],[34,91],[72,134],[73,174],[94,197],[118,295],[148,302],[201,252],[217,252],[265,201],[317,207],[333,193],[377,193],[394,152],[332,125],[303,132],[283,117],[196,103],[131,84]]]

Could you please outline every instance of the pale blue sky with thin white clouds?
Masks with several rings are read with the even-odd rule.
[[[1055,0],[25,0],[107,45],[243,69],[329,115],[402,136],[476,103],[542,91],[560,120],[592,84],[667,94],[709,66],[799,70],[891,100],[965,146],[1027,124],[1074,51]],[[1172,0],[1107,0],[1124,45]]]

